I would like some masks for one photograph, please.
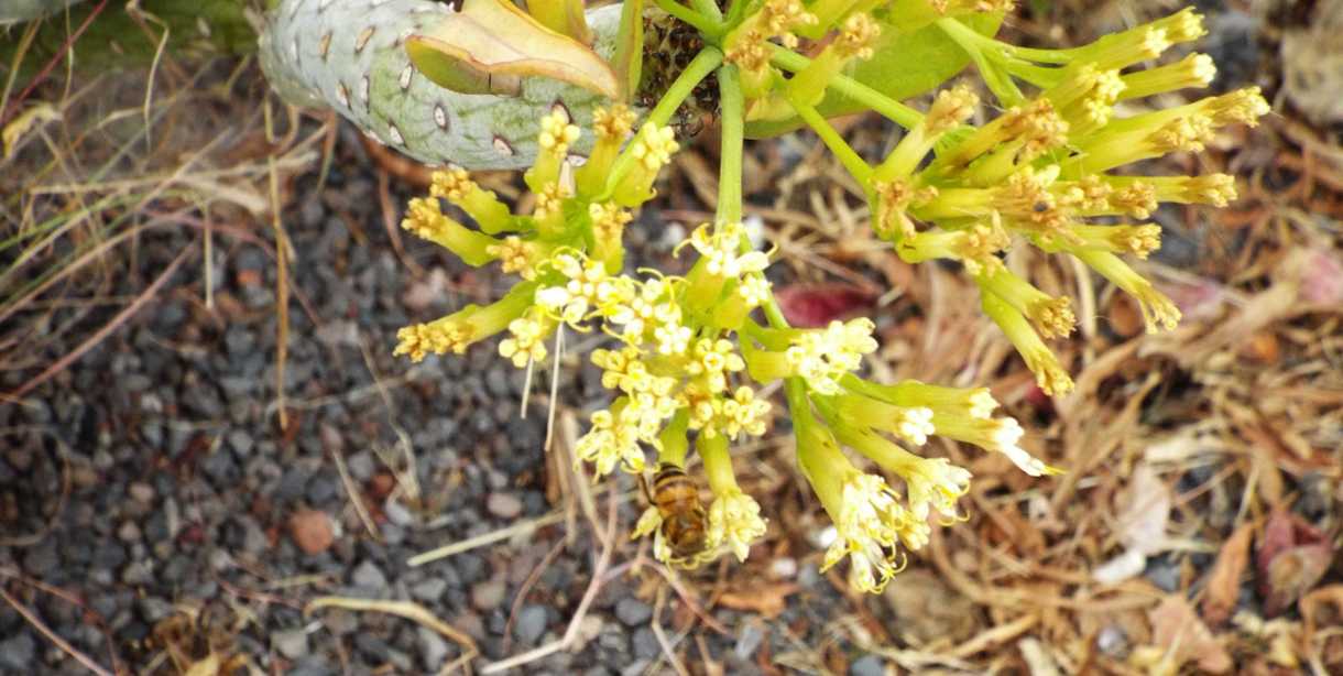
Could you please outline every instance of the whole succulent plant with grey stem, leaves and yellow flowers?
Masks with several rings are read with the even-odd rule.
[[[931,520],[964,517],[972,477],[920,454],[931,437],[1001,453],[1030,476],[1058,470],[1021,448],[1022,426],[995,415],[984,388],[860,375],[878,347],[870,320],[788,325],[764,276],[774,251],[752,246],[741,222],[745,137],[815,132],[862,187],[876,237],[909,263],[960,263],[1039,388],[1062,395],[1073,382],[1046,341],[1072,333],[1070,302],[1013,273],[1005,254],[1072,257],[1132,296],[1148,331],[1175,327],[1176,306],[1127,259],[1160,246],[1147,222],[1160,203],[1225,206],[1236,187],[1226,175],[1124,167],[1197,153],[1269,110],[1253,87],[1156,108],[1159,94],[1213,79],[1206,55],[1163,59],[1205,34],[1193,9],[1045,50],[994,38],[1011,9],[1002,0],[658,0],[587,15],[576,0],[530,3],[530,13],[502,0],[465,0],[459,12],[372,4],[376,28],[342,19],[368,3],[281,3],[267,67],[384,142],[446,165],[402,226],[516,277],[493,304],[403,328],[396,353],[461,355],[500,336],[500,356],[532,370],[555,359],[565,332],[604,335],[590,359],[612,399],[575,452],[596,477],[657,474],[634,535],[673,566],[747,559],[766,517],[731,449],[791,419],[798,465],[835,525],[825,566],[847,559],[864,591],[880,591],[928,543]],[[543,38],[553,54],[536,47]],[[645,55],[646,44],[659,51]],[[573,65],[556,65],[561,56]],[[945,83],[966,63],[992,99]],[[924,110],[900,101],[923,91]],[[624,230],[680,148],[682,106],[720,128],[717,214],[677,249],[690,262],[684,276],[631,270]],[[904,129],[880,161],[827,121],[854,110]],[[496,167],[528,167],[529,212],[467,172]],[[782,402],[761,394],[776,382]],[[688,481],[712,500],[701,504]]]

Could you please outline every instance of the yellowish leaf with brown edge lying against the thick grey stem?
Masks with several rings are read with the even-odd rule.
[[[436,85],[463,94],[516,94],[518,78],[545,77],[608,98],[619,95],[611,66],[505,0],[466,0],[462,11],[406,39],[411,62]]]

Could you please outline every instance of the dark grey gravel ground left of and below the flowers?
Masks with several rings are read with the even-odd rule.
[[[493,341],[420,366],[391,356],[399,327],[488,301],[500,286],[408,238],[408,258],[428,270],[410,274],[381,227],[372,163],[352,136],[337,153],[325,188],[316,191],[313,175],[299,177],[304,198],[285,215],[298,251],[293,282],[313,313],[291,304],[287,431],[275,415],[275,266],[262,249],[226,241],[212,261],[215,310],[203,302],[193,254],[160,302],[23,405],[0,407],[0,570],[82,598],[86,609],[11,586],[55,634],[103,665],[110,636],[124,667],[138,673],[157,657],[158,673],[176,673],[163,661],[156,626],[161,634],[195,609],[211,620],[195,632],[197,657],[215,645],[270,673],[432,672],[459,654],[455,642],[385,614],[305,618],[301,609],[318,595],[414,601],[471,636],[492,661],[559,638],[588,586],[595,547],[583,520],[522,599],[522,582],[561,543],[563,525],[407,564],[414,554],[553,509],[545,396],[518,415],[524,374],[493,353]],[[631,237],[646,261],[666,263],[665,242]],[[189,242],[185,231],[146,239],[138,271],[114,293],[142,289]],[[0,388],[19,386],[21,375],[4,374]],[[580,418],[602,400],[598,376],[582,367],[560,372],[561,400]],[[418,507],[404,497],[406,443]],[[369,505],[376,538],[352,508],[336,456]],[[620,507],[622,532],[638,508]],[[634,546],[622,544],[615,562],[633,555]],[[841,597],[814,564],[783,568],[802,591],[778,626],[819,629]],[[604,585],[583,648],[528,668],[666,671],[665,661],[654,664],[662,649],[651,626],[669,625],[674,638],[680,603],[654,618],[651,587],[642,585],[651,579],[661,578],[645,570]],[[753,614],[713,616],[727,633],[706,632],[705,648],[731,673],[759,671],[763,649],[795,649]],[[0,605],[0,673],[79,671],[9,605]],[[854,668],[872,673],[864,669],[873,665]]]

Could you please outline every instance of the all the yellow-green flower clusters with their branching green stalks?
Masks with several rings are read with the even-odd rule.
[[[576,456],[603,477],[685,470],[693,446],[713,493],[702,511],[702,550],[680,552],[665,528],[669,513],[657,505],[635,527],[637,536],[653,536],[661,560],[682,567],[724,552],[744,560],[764,535],[760,505],[736,481],[729,448],[767,433],[776,405],[761,391],[782,382],[798,464],[835,525],[825,567],[847,559],[850,583],[880,591],[904,566],[905,552],[928,543],[931,519],[950,524],[964,517],[958,499],[971,474],[916,453],[929,437],[1001,453],[1030,476],[1058,470],[1021,448],[1022,426],[995,417],[998,403],[984,388],[864,378],[864,357],[878,347],[870,320],[788,325],[764,276],[771,253],[755,249],[741,223],[747,133],[798,125],[815,132],[866,192],[876,235],[909,263],[960,263],[979,288],[984,313],[1039,388],[1062,395],[1073,383],[1046,340],[1073,331],[1070,304],[1014,274],[1003,254],[1034,246],[1076,258],[1131,294],[1148,331],[1174,327],[1176,306],[1125,258],[1144,258],[1160,246],[1160,228],[1144,223],[1160,203],[1225,206],[1236,196],[1233,180],[1117,169],[1199,152],[1219,128],[1254,125],[1269,108],[1256,89],[1148,108],[1156,94],[1202,87],[1213,78],[1213,63],[1201,54],[1144,66],[1203,35],[1193,9],[1082,47],[1041,50],[991,36],[1010,1],[655,4],[659,20],[670,16],[694,31],[697,54],[650,108],[607,101],[582,114],[568,105],[535,110],[525,183],[536,207],[529,214],[512,212],[461,168],[436,172],[430,196],[411,202],[404,228],[469,265],[497,262],[517,282],[490,305],[402,329],[396,353],[414,360],[462,353],[502,336],[500,355],[530,368],[553,356],[548,345],[561,344],[564,332],[608,336],[610,345],[592,351],[591,360],[614,399],[592,414]],[[572,17],[556,13],[547,26],[564,28]],[[618,34],[615,43],[620,39]],[[952,66],[916,66],[902,48],[924,48],[917,56],[947,54]],[[626,58],[633,60],[612,70],[642,71],[637,82],[665,67],[641,63],[637,54]],[[966,60],[992,102],[962,85],[940,87],[925,110],[886,93],[932,89]],[[897,69],[890,79],[900,79],[898,65],[911,63],[921,69],[916,77],[935,82],[884,90],[862,79],[873,81],[864,70],[870,62]],[[658,175],[678,151],[673,116],[692,95],[704,98],[710,75],[723,138],[717,215],[680,246],[680,255],[693,257],[684,276],[631,271],[624,228],[657,194]],[[1120,103],[1127,103],[1123,112]],[[829,114],[854,109],[904,128],[880,161],[865,160],[827,122]],[[582,164],[571,157],[579,146],[587,153]],[[445,214],[441,199],[465,211],[474,227]]]

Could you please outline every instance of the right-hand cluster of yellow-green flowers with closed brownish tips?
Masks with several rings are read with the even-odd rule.
[[[933,5],[944,13],[978,11],[976,3]],[[1205,55],[1125,70],[1203,35],[1202,17],[1191,9],[1058,51],[1005,44],[952,19],[937,26],[982,56],[976,63],[1006,110],[968,128],[963,122],[978,106],[974,97],[966,90],[940,93],[890,155],[860,176],[869,185],[876,231],[905,261],[962,262],[979,285],[984,313],[1015,345],[1041,390],[1066,394],[1072,379],[1044,340],[1073,331],[1069,301],[1007,270],[1002,253],[1025,241],[1072,255],[1132,294],[1148,331],[1174,328],[1180,314],[1175,304],[1120,258],[1147,258],[1160,247],[1160,227],[1091,219],[1147,219],[1162,202],[1226,204],[1236,196],[1226,175],[1125,176],[1112,169],[1170,152],[1199,152],[1219,128],[1254,125],[1268,103],[1250,87],[1116,117],[1120,101],[1211,81],[1215,69]],[[1038,94],[1022,95],[1018,79]],[[935,146],[941,149],[932,153]]]

